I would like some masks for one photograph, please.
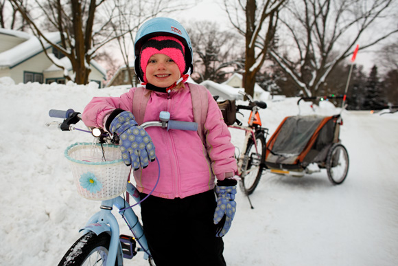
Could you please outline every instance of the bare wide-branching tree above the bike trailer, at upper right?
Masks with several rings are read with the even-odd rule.
[[[391,28],[388,22],[377,32],[368,32],[379,19],[386,21],[393,1],[290,1],[281,18],[285,51],[272,49],[270,55],[305,96],[314,96],[331,70],[352,55],[356,44],[360,43],[360,50],[366,49],[398,32],[397,23]]]

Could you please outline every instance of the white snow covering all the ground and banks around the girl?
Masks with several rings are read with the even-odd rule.
[[[90,142],[91,136],[47,128],[53,120],[48,110],[82,111],[93,96],[124,91],[14,85],[0,78],[0,265],[57,265],[98,210],[99,202],[75,192],[63,155],[69,144]],[[267,102],[261,118],[270,133],[286,115],[298,113],[296,100]],[[329,102],[316,107],[316,113],[339,111]],[[397,265],[398,115],[344,111],[342,117],[340,137],[351,159],[346,181],[333,186],[325,172],[267,174],[250,197],[253,210],[238,192],[233,227],[224,237],[228,265]],[[242,132],[231,133],[239,146]],[[121,230],[128,233],[126,226]],[[142,254],[125,264],[148,265]]]

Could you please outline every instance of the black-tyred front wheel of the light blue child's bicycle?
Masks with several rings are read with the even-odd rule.
[[[110,243],[110,235],[106,232],[84,234],[67,251],[58,266],[66,265],[106,265]],[[91,262],[95,263],[91,263]],[[117,258],[115,266],[117,266]]]

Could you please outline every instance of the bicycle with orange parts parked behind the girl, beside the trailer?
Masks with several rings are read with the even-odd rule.
[[[267,104],[261,101],[255,101],[246,92],[239,91],[240,94],[246,96],[248,105],[237,105],[236,111],[250,110],[248,118],[248,126],[242,126],[242,122],[236,120],[235,124],[230,125],[231,129],[240,129],[245,131],[245,140],[242,151],[239,151],[237,158],[237,175],[240,177],[239,186],[241,190],[248,196],[251,195],[266,168],[266,139],[268,129],[261,127],[261,119],[259,109],[266,109]],[[250,199],[249,199],[250,202]],[[250,203],[251,206],[251,203]],[[253,208],[253,206],[251,206]]]

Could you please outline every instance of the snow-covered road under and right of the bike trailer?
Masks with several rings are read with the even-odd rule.
[[[349,175],[268,174],[248,208],[241,194],[226,237],[229,265],[396,265],[398,261],[398,120],[345,112],[340,137]]]

